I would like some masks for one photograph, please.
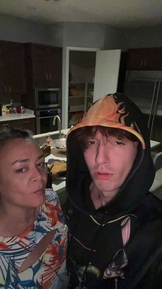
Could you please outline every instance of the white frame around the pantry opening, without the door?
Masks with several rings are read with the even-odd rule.
[[[70,51],[97,52],[100,48],[64,47],[62,56],[62,129],[68,127],[69,105],[69,52]]]

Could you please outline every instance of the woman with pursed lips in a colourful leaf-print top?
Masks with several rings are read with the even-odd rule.
[[[28,131],[0,131],[0,287],[60,288],[67,226]],[[62,288],[65,288],[62,285]]]

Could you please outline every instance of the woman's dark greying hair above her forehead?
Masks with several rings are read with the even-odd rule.
[[[32,131],[8,125],[0,129],[0,148],[3,147],[5,142],[8,142],[8,140],[13,140],[15,138],[30,139],[34,141],[32,138]]]

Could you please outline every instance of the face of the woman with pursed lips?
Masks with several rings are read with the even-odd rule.
[[[43,151],[32,140],[8,140],[0,149],[1,204],[40,206],[45,202],[46,182]]]

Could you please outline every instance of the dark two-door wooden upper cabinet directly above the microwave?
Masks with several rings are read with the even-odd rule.
[[[25,44],[27,79],[32,87],[61,87],[62,48],[35,43]]]

